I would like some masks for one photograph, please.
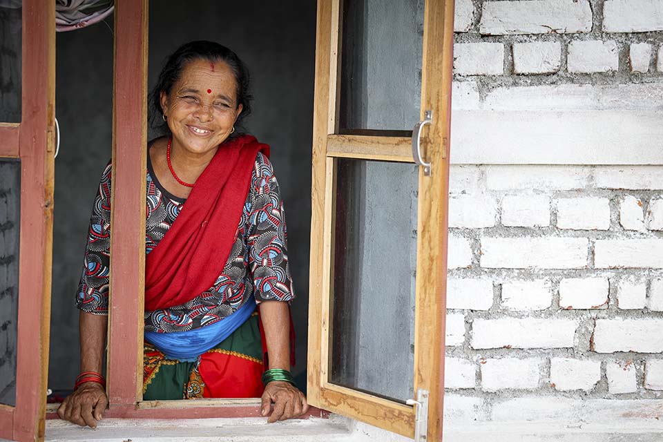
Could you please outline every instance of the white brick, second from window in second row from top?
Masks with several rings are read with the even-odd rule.
[[[513,44],[513,70],[517,74],[557,72],[561,64],[559,41],[535,41]]]

